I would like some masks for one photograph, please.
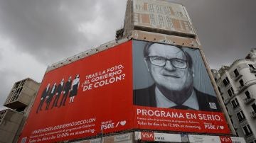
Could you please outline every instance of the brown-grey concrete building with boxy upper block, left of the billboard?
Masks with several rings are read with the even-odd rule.
[[[17,81],[0,111],[0,142],[16,142],[26,122],[40,84],[33,79]]]

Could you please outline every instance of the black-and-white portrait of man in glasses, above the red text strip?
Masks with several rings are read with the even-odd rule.
[[[136,42],[139,44],[136,44]],[[142,71],[139,71],[143,67],[139,66],[139,63],[143,63],[144,68],[147,70],[146,72],[148,72],[147,75],[149,75],[147,79],[143,78],[143,81],[147,84],[150,81],[151,83],[146,87],[139,88],[139,84],[136,83],[138,78],[134,78],[134,105],[183,110],[220,111],[217,98],[212,96],[214,95],[213,86],[209,84],[208,86],[211,87],[206,87],[210,88],[211,93],[200,91],[195,86],[195,82],[210,83],[206,68],[203,66],[201,68],[194,67],[198,63],[194,63],[193,58],[200,59],[200,55],[193,55],[195,57],[191,57],[184,50],[189,50],[189,48],[185,47],[154,42],[143,42],[144,44],[140,44],[140,42],[135,41],[133,48],[133,53],[136,52],[133,55],[134,74]],[[137,47],[139,45],[140,48]],[[138,50],[141,50],[141,52],[137,52]],[[138,53],[141,53],[143,58],[137,58]],[[143,60],[143,62],[138,62],[137,60]],[[202,62],[202,60],[198,62]],[[199,71],[202,68],[204,68],[203,71]],[[197,74],[195,74],[196,72]],[[198,81],[196,78],[202,80]],[[142,83],[142,81],[139,82]],[[207,86],[205,83],[199,83],[198,85]]]

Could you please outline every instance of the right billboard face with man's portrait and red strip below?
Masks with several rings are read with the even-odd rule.
[[[134,40],[132,53],[134,127],[230,132],[198,49]]]

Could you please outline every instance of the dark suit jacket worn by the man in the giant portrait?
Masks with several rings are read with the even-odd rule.
[[[134,90],[134,105],[156,107],[155,88],[156,86],[152,85],[148,88]],[[220,106],[216,97],[210,96],[207,93],[202,93],[196,88],[194,88],[194,91],[196,92],[196,98],[198,99],[199,110],[220,112]],[[209,103],[215,103],[217,109],[210,108]]]

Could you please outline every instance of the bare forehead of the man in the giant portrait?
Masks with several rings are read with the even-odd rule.
[[[185,57],[183,51],[178,47],[172,45],[153,44],[149,47],[149,55],[151,56],[163,56],[163,57]]]

